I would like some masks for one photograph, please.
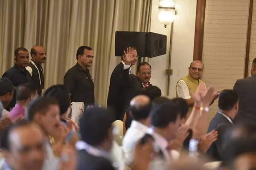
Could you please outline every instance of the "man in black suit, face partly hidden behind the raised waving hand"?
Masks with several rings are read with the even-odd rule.
[[[138,54],[135,47],[131,47],[131,48],[133,49],[133,51],[131,51],[131,54],[134,57],[133,61],[131,62],[131,66],[132,66],[136,64],[138,59]],[[126,49],[127,48],[125,48],[125,50]],[[122,111],[125,105],[126,91],[124,91],[124,88],[122,85],[122,71],[123,71],[124,64],[125,64],[125,55],[122,56],[122,61],[118,65],[116,65],[116,68],[113,70],[110,77],[107,107],[112,109],[113,112],[116,113],[115,120],[121,119],[121,116],[123,113]],[[131,67],[129,68],[129,74],[132,74]]]

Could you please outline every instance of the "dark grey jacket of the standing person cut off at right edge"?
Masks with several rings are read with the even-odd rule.
[[[235,123],[256,122],[256,75],[236,81],[233,90],[239,96],[239,112]]]

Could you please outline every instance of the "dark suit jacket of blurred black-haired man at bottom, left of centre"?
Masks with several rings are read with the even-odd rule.
[[[115,170],[108,159],[92,156],[86,150],[78,151],[76,170]]]

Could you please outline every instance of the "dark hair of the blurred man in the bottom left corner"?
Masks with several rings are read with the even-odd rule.
[[[1,149],[10,151],[10,141],[9,141],[9,134],[12,130],[15,130],[19,127],[24,127],[31,125],[32,122],[26,121],[26,120],[20,120],[15,122],[14,124],[11,124],[3,129],[1,132]]]

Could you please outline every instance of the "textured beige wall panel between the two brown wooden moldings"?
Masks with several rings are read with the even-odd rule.
[[[207,0],[202,57],[207,86],[232,89],[236,79],[244,77],[249,1]],[[256,28],[254,33],[256,49]],[[218,100],[210,107],[209,121],[217,110]]]

